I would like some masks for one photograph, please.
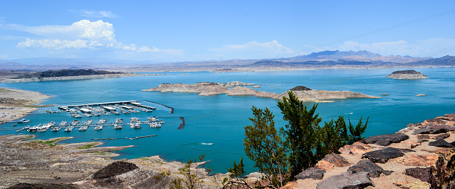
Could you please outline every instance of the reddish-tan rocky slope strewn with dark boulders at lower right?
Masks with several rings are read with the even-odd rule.
[[[328,154],[285,188],[455,188],[455,114]]]

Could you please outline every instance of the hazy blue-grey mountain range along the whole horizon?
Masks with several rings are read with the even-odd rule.
[[[391,67],[410,67],[410,66],[455,66],[455,56],[444,56],[441,58],[431,57],[412,57],[390,55],[381,56],[370,51],[320,51],[304,56],[294,56],[280,59],[232,59],[225,61],[188,61],[174,63],[156,63],[152,61],[127,61],[113,59],[16,59],[0,60],[0,70],[11,71],[47,71],[58,69],[110,69],[110,70],[129,70],[135,69],[148,71],[146,68],[161,68],[160,71],[185,71],[185,68],[199,68],[198,70],[213,71],[219,69],[246,68],[246,67],[331,67],[331,66],[391,66]],[[168,68],[168,69],[162,69]]]

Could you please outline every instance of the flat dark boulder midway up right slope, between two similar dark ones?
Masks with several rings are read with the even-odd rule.
[[[414,150],[408,149],[398,149],[394,147],[386,147],[381,150],[375,150],[372,152],[367,152],[362,154],[362,158],[367,158],[372,160],[374,163],[385,164],[388,159],[393,159],[396,157],[402,157],[405,154],[403,152],[415,152]]]

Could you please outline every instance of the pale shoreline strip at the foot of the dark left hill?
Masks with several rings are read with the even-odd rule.
[[[26,83],[26,82],[39,82],[39,81],[53,81],[53,80],[90,80],[100,78],[122,78],[151,75],[147,73],[115,73],[103,75],[81,75],[81,76],[66,76],[66,77],[52,77],[52,78],[23,78],[23,79],[6,79],[2,83]]]

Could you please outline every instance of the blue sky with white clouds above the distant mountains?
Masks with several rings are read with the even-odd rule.
[[[454,18],[455,1],[0,0],[0,59],[454,56]]]

